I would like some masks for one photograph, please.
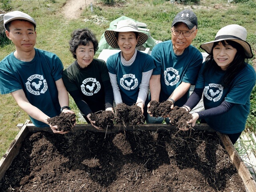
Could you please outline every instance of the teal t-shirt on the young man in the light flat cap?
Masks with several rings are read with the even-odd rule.
[[[30,62],[18,60],[12,52],[0,62],[0,93],[22,89],[28,101],[49,117],[60,114],[56,81],[62,78],[63,65],[58,56],[35,48]],[[47,124],[30,117],[37,127]]]

